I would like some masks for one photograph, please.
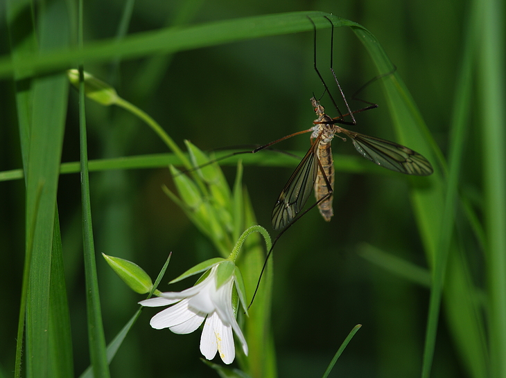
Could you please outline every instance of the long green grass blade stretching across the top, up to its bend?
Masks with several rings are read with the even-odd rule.
[[[288,12],[278,15],[245,17],[208,24],[165,28],[146,33],[137,33],[121,41],[110,39],[89,42],[82,51],[62,50],[44,56],[31,56],[20,60],[18,69],[32,75],[73,68],[76,61],[104,62],[117,55],[123,59],[143,57],[155,53],[175,53],[206,46],[216,46],[245,39],[283,35],[313,30],[308,17],[315,21],[317,28],[329,28],[329,22],[322,16],[325,12]],[[352,21],[333,17],[335,26],[356,25]],[[9,57],[0,57],[0,78],[12,75],[14,66]]]

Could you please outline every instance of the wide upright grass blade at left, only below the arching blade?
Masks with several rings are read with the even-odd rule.
[[[35,231],[26,336],[27,343],[28,339],[30,340],[27,348],[33,357],[27,360],[30,364],[33,363],[30,372],[38,377],[44,377],[47,373],[46,330],[49,321],[51,244],[67,87],[65,78],[60,75],[39,80],[35,84],[34,91],[35,104],[28,163],[27,219],[33,219]],[[51,96],[48,96],[48,93],[51,93]],[[40,202],[37,206],[39,192]],[[28,225],[27,230],[31,228],[32,226]]]

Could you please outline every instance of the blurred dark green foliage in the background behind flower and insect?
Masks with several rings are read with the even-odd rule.
[[[469,1],[434,0],[146,0],[134,4],[128,33],[297,10],[321,10],[356,21],[381,42],[446,153],[457,69],[462,60],[462,30],[469,7]],[[117,0],[87,3],[85,40],[114,37],[124,8],[125,3]],[[5,36],[3,19],[0,35]],[[318,66],[330,82],[326,71],[330,29],[318,30],[317,48]],[[8,39],[0,38],[0,54],[8,53]],[[347,28],[335,30],[333,65],[348,96],[378,75],[363,46]],[[170,56],[124,61],[118,57],[110,64],[87,64],[86,69],[155,118],[180,147],[188,139],[202,150],[263,145],[311,127],[315,114],[309,98],[313,93],[321,96],[323,89],[313,71],[313,33],[263,37]],[[13,85],[2,80],[0,87],[0,171],[4,171],[21,168],[22,163]],[[77,97],[71,91],[63,162],[79,159]],[[358,97],[379,107],[358,115],[355,130],[395,140],[381,85],[369,85]],[[363,102],[351,101],[351,107],[363,107]],[[477,120],[480,114],[472,112],[471,117],[471,121]],[[167,152],[146,125],[123,109],[89,101],[87,123],[90,159]],[[478,206],[482,201],[480,138],[480,133],[473,133],[466,145],[460,186]],[[276,147],[300,151],[302,156],[308,145],[308,137],[298,136]],[[342,143],[338,138],[334,146],[338,154],[355,154],[351,143]],[[297,163],[294,159],[293,168]],[[230,183],[234,171],[225,168]],[[291,168],[245,166],[243,182],[259,224],[270,226],[272,206],[290,173]],[[89,365],[83,342],[87,336],[79,180],[79,174],[62,175],[58,191],[76,375]],[[164,185],[175,188],[168,169],[93,172],[90,181],[98,253],[134,261],[155,277],[172,251],[166,279],[159,286],[162,291],[166,290],[166,282],[182,271],[216,257],[210,242],[162,192]],[[0,197],[0,287],[5,296],[0,313],[0,365],[10,372],[15,359],[24,262],[23,181],[1,182]],[[385,173],[381,168],[372,174],[337,172],[332,221],[327,224],[313,210],[279,240],[274,251],[272,328],[280,377],[320,376],[357,323],[363,327],[338,361],[334,376],[419,376],[427,287],[393,275],[358,255],[360,246],[367,243],[427,267],[409,205],[408,181],[401,174]],[[466,258],[472,262],[469,273],[481,286],[485,279],[482,246],[463,222],[464,210],[456,215],[457,233],[468,246]],[[98,275],[105,336],[110,340],[137,309],[141,298],[101,260]],[[195,363],[200,356],[200,334],[154,332],[148,316],[141,316],[112,361],[112,376],[211,376],[204,363]],[[459,347],[442,321],[432,376],[471,376],[467,374]]]

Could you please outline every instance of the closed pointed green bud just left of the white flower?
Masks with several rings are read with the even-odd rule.
[[[153,287],[152,280],[139,265],[122,258],[105,255],[105,253],[102,253],[102,255],[107,264],[130,289],[139,294],[146,294],[151,291]]]

